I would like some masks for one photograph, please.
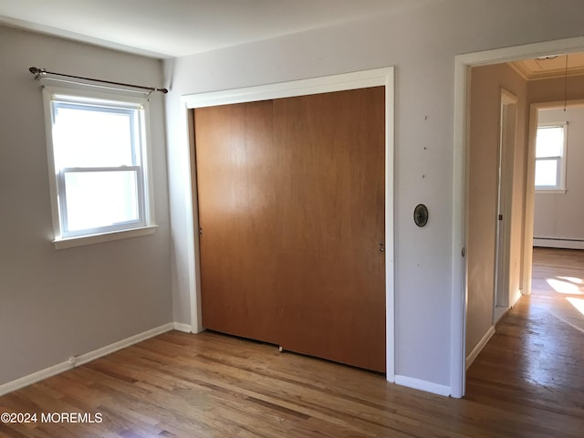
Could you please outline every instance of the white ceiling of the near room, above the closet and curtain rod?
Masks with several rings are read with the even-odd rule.
[[[441,0],[0,0],[0,24],[183,57]]]

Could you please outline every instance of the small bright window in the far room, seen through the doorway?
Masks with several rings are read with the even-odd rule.
[[[553,193],[566,189],[566,139],[568,123],[537,126],[536,190]]]

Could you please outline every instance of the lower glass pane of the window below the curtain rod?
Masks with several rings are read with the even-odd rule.
[[[138,172],[66,172],[68,232],[140,220]]]

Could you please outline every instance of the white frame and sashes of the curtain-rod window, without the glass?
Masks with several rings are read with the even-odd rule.
[[[56,249],[64,249],[79,245],[90,245],[111,240],[119,240],[140,235],[151,235],[157,225],[154,223],[153,183],[151,175],[151,141],[150,141],[150,99],[147,96],[136,96],[136,93],[124,90],[95,91],[82,86],[54,87],[43,85],[43,105],[47,136],[47,164],[49,176],[49,191],[51,198],[51,213],[53,220],[52,243]],[[57,107],[53,105],[57,102]],[[67,167],[57,169],[53,142],[53,125],[55,108],[59,103],[95,106],[97,110],[127,112],[138,110],[138,126],[131,125],[132,155],[131,166],[94,166]],[[111,111],[107,109],[110,108]],[[130,111],[129,111],[130,110]],[[136,154],[138,155],[136,157]],[[85,230],[68,230],[67,193],[65,176],[69,172],[117,172],[133,171],[136,173],[136,190],[138,203],[137,221],[105,225]]]

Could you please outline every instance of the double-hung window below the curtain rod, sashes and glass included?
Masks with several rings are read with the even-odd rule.
[[[48,87],[44,93],[56,245],[149,228],[148,101]]]

